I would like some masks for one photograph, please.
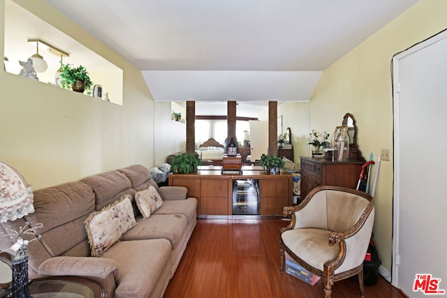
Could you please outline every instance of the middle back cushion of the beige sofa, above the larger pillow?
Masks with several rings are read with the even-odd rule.
[[[96,197],[96,210],[113,204],[124,195],[133,196],[135,194],[129,178],[117,170],[96,174],[81,181],[93,188]]]

